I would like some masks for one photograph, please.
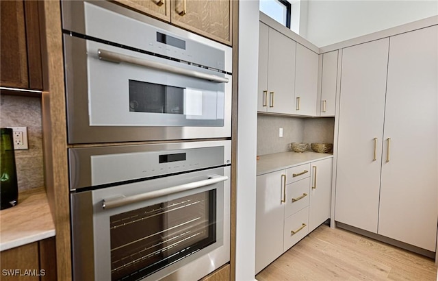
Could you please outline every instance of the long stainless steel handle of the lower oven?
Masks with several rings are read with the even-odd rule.
[[[189,191],[190,189],[200,188],[211,184],[217,184],[218,182],[224,182],[226,180],[228,180],[228,177],[226,175],[210,175],[208,180],[190,182],[188,184],[181,184],[178,186],[172,186],[168,188],[159,189],[157,191],[150,191],[150,192],[146,192],[138,195],[132,195],[128,197],[123,196],[115,199],[103,199],[102,208],[107,210],[120,206],[126,206],[139,201],[170,195],[172,193],[179,193],[181,191]]]

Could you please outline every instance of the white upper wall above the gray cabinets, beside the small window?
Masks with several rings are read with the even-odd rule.
[[[437,0],[309,0],[307,34],[300,35],[324,47],[437,14]]]

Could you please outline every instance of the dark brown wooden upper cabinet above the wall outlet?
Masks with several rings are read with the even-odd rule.
[[[0,5],[0,86],[42,90],[38,1]]]

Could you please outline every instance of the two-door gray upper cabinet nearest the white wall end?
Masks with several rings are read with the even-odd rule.
[[[259,112],[294,114],[296,42],[260,23]]]

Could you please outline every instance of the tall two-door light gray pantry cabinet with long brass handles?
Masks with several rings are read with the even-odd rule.
[[[342,54],[335,221],[431,252],[437,237],[438,27]]]

